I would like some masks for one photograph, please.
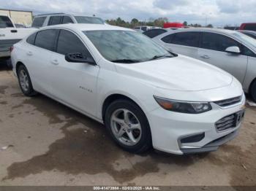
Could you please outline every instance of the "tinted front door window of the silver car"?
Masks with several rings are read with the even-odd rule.
[[[239,47],[240,44],[236,40],[231,39],[222,34],[203,33],[201,47],[209,50],[217,50],[225,52],[227,47]]]

